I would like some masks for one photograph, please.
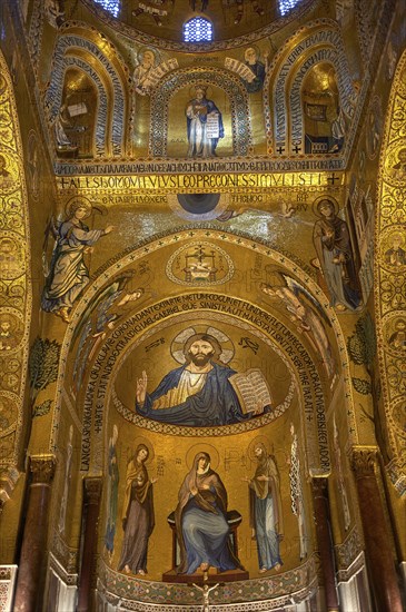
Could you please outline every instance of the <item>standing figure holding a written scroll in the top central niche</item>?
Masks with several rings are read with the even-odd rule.
[[[206,86],[196,86],[196,98],[186,107],[188,157],[215,157],[218,141],[225,135],[221,112],[206,98]]]

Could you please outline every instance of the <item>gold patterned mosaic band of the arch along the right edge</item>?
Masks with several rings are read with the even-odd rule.
[[[405,411],[405,355],[400,344],[392,342],[397,333],[405,334],[406,295],[402,267],[387,258],[394,236],[404,236],[406,214],[404,185],[406,168],[399,151],[406,150],[406,52],[403,53],[394,77],[386,116],[383,148],[379,161],[378,201],[376,208],[375,244],[375,309],[378,330],[378,359],[382,376],[385,417],[393,450],[393,470],[396,482],[406,477],[406,436],[396,424],[397,409]],[[403,176],[402,176],[403,172]],[[405,240],[402,247],[406,249]],[[405,268],[405,266],[403,266]],[[397,323],[403,323],[402,329]]]

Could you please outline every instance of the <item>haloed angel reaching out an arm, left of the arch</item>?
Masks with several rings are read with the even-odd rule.
[[[55,313],[66,323],[70,323],[73,302],[89,283],[89,270],[83,256],[91,251],[95,243],[110,234],[111,225],[106,229],[89,229],[83,220],[91,214],[90,203],[75,200],[68,209],[68,218],[55,229],[56,246],[50,272],[42,293],[41,307]]]

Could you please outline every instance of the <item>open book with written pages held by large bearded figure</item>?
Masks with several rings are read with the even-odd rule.
[[[244,413],[263,414],[264,408],[273,404],[268,383],[260,369],[251,368],[229,377],[238,395]]]

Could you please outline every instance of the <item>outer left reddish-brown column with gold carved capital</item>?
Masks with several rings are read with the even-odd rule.
[[[30,457],[31,483],[17,578],[14,612],[31,612],[43,585],[42,573],[47,556],[48,512],[51,482],[55,474],[53,455]]]

